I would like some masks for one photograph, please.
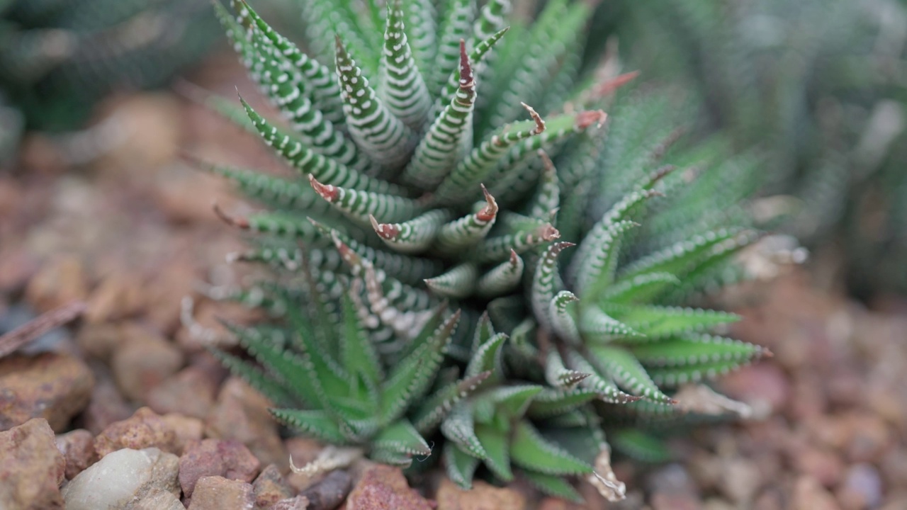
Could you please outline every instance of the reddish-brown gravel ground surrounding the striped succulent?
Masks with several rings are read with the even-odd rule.
[[[190,79],[257,97],[229,54]],[[420,495],[398,470],[366,461],[327,477],[289,473],[289,453],[302,464],[321,446],[279,436],[268,403],[203,348],[203,338],[226,338],[217,316],[253,312],[197,299],[198,330],[180,323],[180,302],[199,298],[200,282],[249,276],[225,264],[241,239],[211,204],[249,206],[180,151],[279,164],[173,93],[113,97],[98,119],[121,136],[91,164],[33,135],[13,172],[0,172],[0,330],[85,303],[69,328],[0,358],[0,507],[311,509],[336,507],[349,492],[349,509],[433,507],[424,496],[442,510],[578,508],[519,484],[463,493],[438,478]],[[587,487],[586,507],[907,509],[907,299],[866,307],[829,289],[825,269],[789,270],[721,297],[745,317],[736,336],[775,357],[719,386],[770,411],[766,419],[697,430],[672,444],[677,460],[665,466],[618,461],[627,501],[608,505]]]

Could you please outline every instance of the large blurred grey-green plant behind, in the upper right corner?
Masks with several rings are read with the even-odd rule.
[[[775,228],[859,297],[907,289],[903,2],[624,1],[599,20],[643,79],[697,95],[702,132],[765,158]]]

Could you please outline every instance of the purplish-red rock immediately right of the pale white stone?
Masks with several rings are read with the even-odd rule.
[[[180,486],[186,497],[192,497],[196,483],[205,476],[251,482],[259,466],[258,459],[239,441],[204,439],[191,443],[180,456]]]

